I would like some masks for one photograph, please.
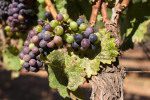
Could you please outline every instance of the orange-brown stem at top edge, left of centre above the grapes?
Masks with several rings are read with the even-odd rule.
[[[56,16],[57,16],[57,11],[53,5],[53,3],[51,2],[51,0],[45,0],[45,3],[46,3],[46,11],[47,12],[50,12],[53,16],[54,19],[56,19]]]

